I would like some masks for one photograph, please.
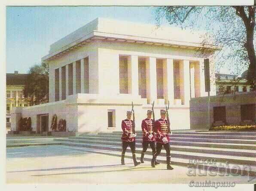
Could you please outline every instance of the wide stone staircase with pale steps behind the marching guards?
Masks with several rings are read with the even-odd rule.
[[[122,132],[82,134],[78,137],[55,138],[62,145],[76,146],[90,152],[118,156],[121,159]],[[142,131],[137,131],[136,155],[140,160]],[[256,176],[256,132],[173,131],[171,135],[171,164],[197,169]],[[166,163],[165,149],[158,161]],[[126,158],[132,158],[128,147]],[[150,165],[152,151],[145,153]],[[126,161],[130,161],[129,159]],[[121,160],[120,160],[121,162]],[[130,161],[131,162],[131,161]]]

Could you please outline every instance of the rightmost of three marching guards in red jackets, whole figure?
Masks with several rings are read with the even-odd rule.
[[[168,121],[166,118],[166,110],[161,110],[161,118],[155,121],[156,132],[156,153],[152,158],[151,166],[155,167],[155,159],[161,153],[164,146],[166,151],[167,170],[173,170],[171,167],[171,154],[170,154],[170,134],[168,134]]]

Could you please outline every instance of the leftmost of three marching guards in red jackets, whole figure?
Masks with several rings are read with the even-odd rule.
[[[133,133],[133,121],[131,120],[131,111],[127,111],[127,119],[122,120],[122,158],[121,158],[121,164],[125,164],[125,151],[128,146],[131,148],[132,152],[132,158],[134,162],[134,166],[137,166],[140,164],[140,162],[137,162],[136,155],[135,155],[135,137],[136,134]]]

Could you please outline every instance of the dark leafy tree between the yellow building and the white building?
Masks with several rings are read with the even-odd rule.
[[[30,95],[30,105],[40,104],[40,100],[49,95],[48,64],[41,63],[30,67],[23,91],[26,97]]]

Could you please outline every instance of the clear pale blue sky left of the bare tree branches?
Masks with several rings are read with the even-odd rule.
[[[155,24],[154,7],[9,6],[6,8],[6,72],[27,73],[50,45],[97,17]],[[163,23],[165,24],[165,23]],[[229,73],[223,68],[220,72]]]

